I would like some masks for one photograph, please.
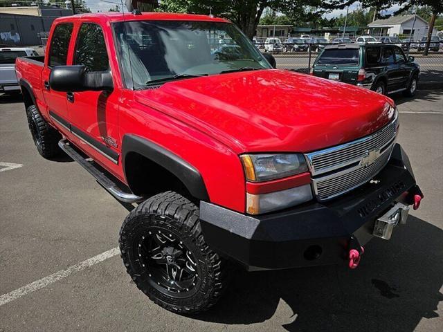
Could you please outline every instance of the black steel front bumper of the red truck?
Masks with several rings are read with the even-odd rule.
[[[259,216],[201,202],[205,241],[248,270],[341,264],[351,237],[367,243],[374,221],[392,203],[412,204],[414,194],[421,194],[398,144],[374,180],[327,203],[309,202]]]

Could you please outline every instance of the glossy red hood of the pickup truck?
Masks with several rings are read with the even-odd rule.
[[[393,105],[350,84],[280,70],[179,80],[136,91],[135,99],[237,153],[309,152],[349,142],[387,124]]]

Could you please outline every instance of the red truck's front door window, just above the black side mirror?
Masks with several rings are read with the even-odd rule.
[[[105,37],[100,26],[82,24],[75,46],[74,64],[86,66],[87,71],[107,71],[109,69]]]

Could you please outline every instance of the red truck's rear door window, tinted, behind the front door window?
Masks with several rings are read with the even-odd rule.
[[[48,66],[64,66],[68,59],[69,41],[71,40],[73,24],[59,24],[55,27],[51,40]]]

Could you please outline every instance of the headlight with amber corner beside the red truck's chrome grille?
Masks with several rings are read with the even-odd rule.
[[[240,158],[248,181],[269,181],[307,172],[302,154],[243,154]]]

